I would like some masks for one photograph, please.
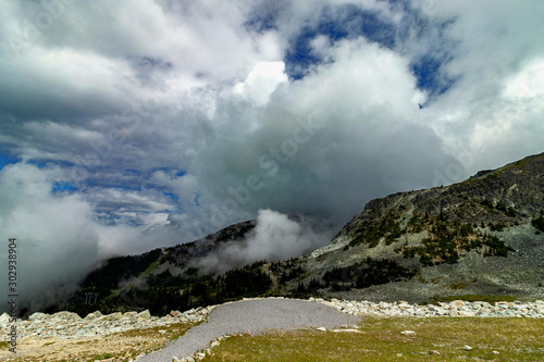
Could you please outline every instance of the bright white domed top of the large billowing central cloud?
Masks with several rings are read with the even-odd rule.
[[[372,107],[387,107],[395,116],[410,117],[425,95],[417,89],[416,78],[410,74],[409,59],[369,43],[363,38],[341,41],[332,48],[332,64],[319,65],[300,83],[306,91],[316,85],[323,86],[309,97],[314,104],[327,107],[356,107],[360,111]],[[308,98],[297,95],[305,101]],[[339,110],[337,110],[339,111]],[[330,112],[332,113],[332,112]],[[336,114],[342,114],[341,112]],[[370,120],[369,120],[370,121]]]

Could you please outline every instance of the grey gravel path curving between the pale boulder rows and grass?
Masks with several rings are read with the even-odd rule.
[[[208,322],[191,328],[164,349],[144,355],[137,361],[171,362],[174,355],[181,359],[208,348],[218,337],[236,335],[248,329],[251,335],[258,335],[270,329],[334,328],[353,325],[359,321],[360,317],[306,300],[244,300],[219,305],[210,313]]]

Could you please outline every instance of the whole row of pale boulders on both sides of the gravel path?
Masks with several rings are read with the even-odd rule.
[[[257,298],[261,299],[261,298]],[[280,298],[283,299],[283,298]],[[472,316],[472,317],[530,317],[544,319],[544,301],[535,302],[438,302],[436,304],[409,304],[407,302],[369,302],[310,298],[310,301],[332,307],[349,315],[383,315],[383,316]],[[218,305],[191,309],[186,312],[172,311],[169,315],[151,316],[149,311],[140,313],[112,313],[102,315],[99,311],[84,319],[76,313],[59,312],[55,314],[34,313],[26,321],[17,321],[17,338],[27,337],[78,339],[96,336],[108,336],[131,329],[170,326],[174,323],[201,322]],[[7,313],[0,316],[2,333],[8,334],[11,324]]]

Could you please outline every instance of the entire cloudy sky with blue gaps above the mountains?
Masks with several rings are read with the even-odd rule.
[[[540,0],[0,0],[0,236],[22,298],[251,219],[246,253],[287,258],[373,198],[543,152],[543,16]]]

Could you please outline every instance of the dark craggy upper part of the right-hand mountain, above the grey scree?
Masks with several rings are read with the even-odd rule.
[[[543,211],[544,153],[479,173],[460,184],[372,200],[338,237],[348,236],[350,246],[375,247],[405,235],[455,233],[447,236],[459,244],[462,237],[477,239],[478,230],[500,232],[529,224]],[[435,260],[441,261],[445,260]]]

